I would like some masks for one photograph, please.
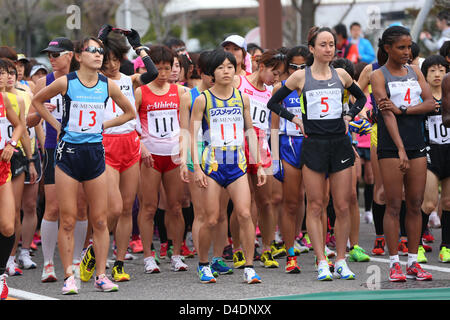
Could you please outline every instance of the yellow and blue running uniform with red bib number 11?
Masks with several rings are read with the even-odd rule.
[[[244,153],[244,102],[238,89],[233,88],[229,99],[222,100],[205,90],[205,111],[202,129],[206,137],[201,168],[222,187],[247,172]]]

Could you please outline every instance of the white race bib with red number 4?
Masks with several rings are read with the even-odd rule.
[[[397,106],[410,107],[420,103],[422,88],[415,79],[388,83],[391,101]]]

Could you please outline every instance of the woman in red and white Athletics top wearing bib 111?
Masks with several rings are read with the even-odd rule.
[[[179,104],[185,88],[169,83],[174,53],[166,46],[153,46],[150,58],[158,77],[136,89],[136,109],[142,126],[142,164],[139,190],[139,230],[144,249],[145,272],[159,272],[151,251],[159,187],[166,193],[167,233],[173,240],[172,271],[186,271],[181,259],[184,220],[181,212],[183,185],[179,172]]]

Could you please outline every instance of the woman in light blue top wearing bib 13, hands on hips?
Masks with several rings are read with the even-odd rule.
[[[55,152],[55,182],[60,207],[58,246],[64,267],[63,294],[76,294],[78,287],[72,268],[73,228],[77,215],[78,184],[81,182],[89,205],[89,220],[93,228],[93,250],[95,254],[95,288],[101,291],[117,291],[105,275],[109,249],[107,226],[107,180],[105,174],[102,132],[135,118],[130,101],[119,87],[98,73],[103,63],[104,49],[100,40],[86,38],[76,49],[80,63],[77,72],[55,80],[42,89],[33,99],[37,112],[56,128],[59,136]],[[62,122],[45,108],[44,101],[61,94],[64,96]],[[103,122],[107,99],[111,97],[123,109],[124,114]],[[58,187],[59,186],[59,187]],[[91,252],[92,251],[92,252]],[[86,257],[86,255],[85,255]],[[83,259],[84,260],[84,259]],[[80,266],[81,278],[85,281],[94,273],[94,268]]]

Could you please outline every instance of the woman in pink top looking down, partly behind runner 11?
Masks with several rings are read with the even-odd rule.
[[[247,158],[247,172],[250,181],[252,203],[256,205],[257,212],[252,212],[253,224],[259,225],[262,237],[263,252],[261,254],[261,264],[266,268],[277,268],[278,262],[273,258],[270,244],[275,238],[275,219],[272,205],[272,157],[270,155],[269,137],[270,132],[270,111],[267,109],[267,102],[272,93],[267,86],[272,86],[279,81],[280,75],[284,72],[286,56],[276,50],[268,50],[262,54],[258,62],[258,70],[248,76],[235,76],[233,85],[241,93],[248,95],[250,99],[250,115],[252,117],[253,128],[258,137],[259,152],[261,154],[262,167],[266,169],[267,183],[262,187],[257,187],[257,162],[250,155],[248,144],[245,147]],[[270,174],[268,174],[270,172]],[[252,210],[253,211],[253,210]],[[240,248],[239,228],[236,227],[236,216],[230,219],[231,232],[233,238],[233,261],[236,268],[245,264],[246,257],[242,255]]]

